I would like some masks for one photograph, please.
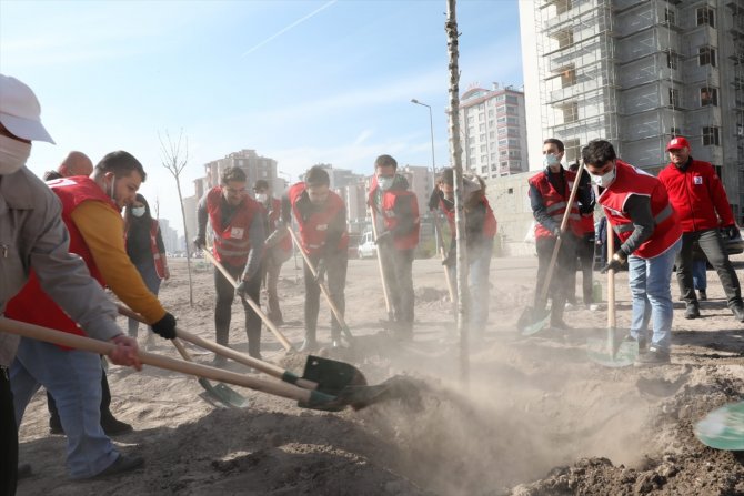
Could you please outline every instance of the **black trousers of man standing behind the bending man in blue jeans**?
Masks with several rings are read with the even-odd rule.
[[[547,301],[541,301],[545,277],[547,276],[547,267],[550,266],[551,257],[553,256],[553,249],[555,247],[556,237],[537,237],[535,246],[537,250],[537,287],[535,291],[535,308],[544,308]],[[547,290],[547,297],[553,301],[551,307],[551,318],[560,321],[563,318],[563,307],[569,297],[570,292],[574,291],[571,287],[571,274],[576,272],[576,243],[577,239],[571,232],[563,233],[561,236],[561,247],[559,250],[557,259],[555,261],[555,269],[551,284]]]

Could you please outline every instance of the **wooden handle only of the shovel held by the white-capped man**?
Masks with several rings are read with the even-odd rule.
[[[68,346],[84,352],[97,353],[99,355],[108,355],[114,348],[114,345],[109,342],[91,340],[90,337],[78,336],[76,334],[63,333],[39,325],[27,324],[24,322],[12,321],[10,318],[0,317],[0,332],[17,334],[31,340],[46,341],[48,343]],[[299,402],[308,403],[311,401],[311,391],[301,389],[299,387],[284,384],[262,381],[259,378],[248,377],[234,372],[223,371],[207,365],[197,363],[183,362],[168,356],[155,355],[153,353],[139,352],[140,362],[147,365],[152,365],[158,368],[165,368],[168,371],[179,372],[181,374],[195,375],[211,381],[233,384],[235,386],[248,387],[249,389],[260,391],[262,393],[272,394]]]

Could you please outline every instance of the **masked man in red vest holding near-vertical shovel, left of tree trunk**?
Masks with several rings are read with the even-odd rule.
[[[419,245],[419,202],[390,155],[374,161],[366,203],[378,226],[378,256],[393,311],[395,336],[413,336],[413,255]]]

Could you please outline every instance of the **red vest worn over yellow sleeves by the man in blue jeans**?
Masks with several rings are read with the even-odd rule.
[[[62,203],[62,221],[64,221],[64,224],[70,232],[70,253],[80,255],[95,281],[98,281],[101,286],[105,285],[86,241],[72,222],[71,214],[78,205],[86,201],[103,202],[117,213],[119,213],[119,207],[103,193],[103,191],[101,191],[101,188],[95,184],[92,179],[87,176],[57,179],[49,181],[47,184],[54,193],[57,193],[57,196],[59,196]],[[23,290],[8,302],[6,316],[29,324],[56,328],[70,334],[86,335],[86,332],[68,317],[62,308],[60,308],[57,303],[44,293],[33,271],[31,271],[29,281],[26,283],[26,286],[23,286]],[[62,348],[69,350],[67,347]]]

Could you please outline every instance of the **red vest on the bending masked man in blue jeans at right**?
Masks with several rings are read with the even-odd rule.
[[[617,169],[615,181],[602,192],[597,201],[620,241],[625,242],[633,233],[633,222],[624,211],[627,198],[640,194],[651,199],[651,213],[656,226],[651,237],[633,254],[642,259],[653,259],[682,237],[677,214],[658,179],[621,160],[616,161],[615,168]]]

